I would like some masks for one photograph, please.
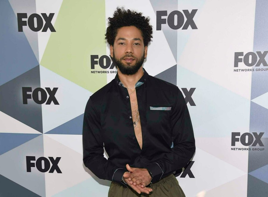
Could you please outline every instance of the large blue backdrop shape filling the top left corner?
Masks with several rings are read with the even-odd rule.
[[[8,0],[0,1],[1,39],[0,85],[37,66],[38,60],[24,34],[18,32],[18,21]]]

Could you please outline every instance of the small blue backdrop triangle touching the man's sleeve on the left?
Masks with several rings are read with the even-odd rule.
[[[46,134],[82,135],[84,114],[46,132]]]

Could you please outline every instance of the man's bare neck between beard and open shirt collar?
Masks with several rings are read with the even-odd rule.
[[[118,73],[118,77],[119,77],[120,81],[123,83],[124,87],[128,87],[128,88],[135,87],[138,80],[141,79],[141,77],[144,74],[143,70],[142,70],[142,66],[138,70],[138,72],[133,74],[133,75],[122,74],[119,69],[117,70],[117,73]]]

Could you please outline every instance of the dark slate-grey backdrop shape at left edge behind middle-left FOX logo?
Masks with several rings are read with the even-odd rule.
[[[32,99],[23,104],[22,87],[40,87],[39,66],[0,86],[0,111],[42,133],[42,107]]]

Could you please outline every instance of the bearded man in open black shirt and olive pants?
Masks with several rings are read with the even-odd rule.
[[[108,196],[185,196],[173,175],[195,151],[183,95],[142,68],[152,38],[148,17],[117,8],[108,21],[106,39],[118,73],[86,105],[84,164],[112,181]]]

